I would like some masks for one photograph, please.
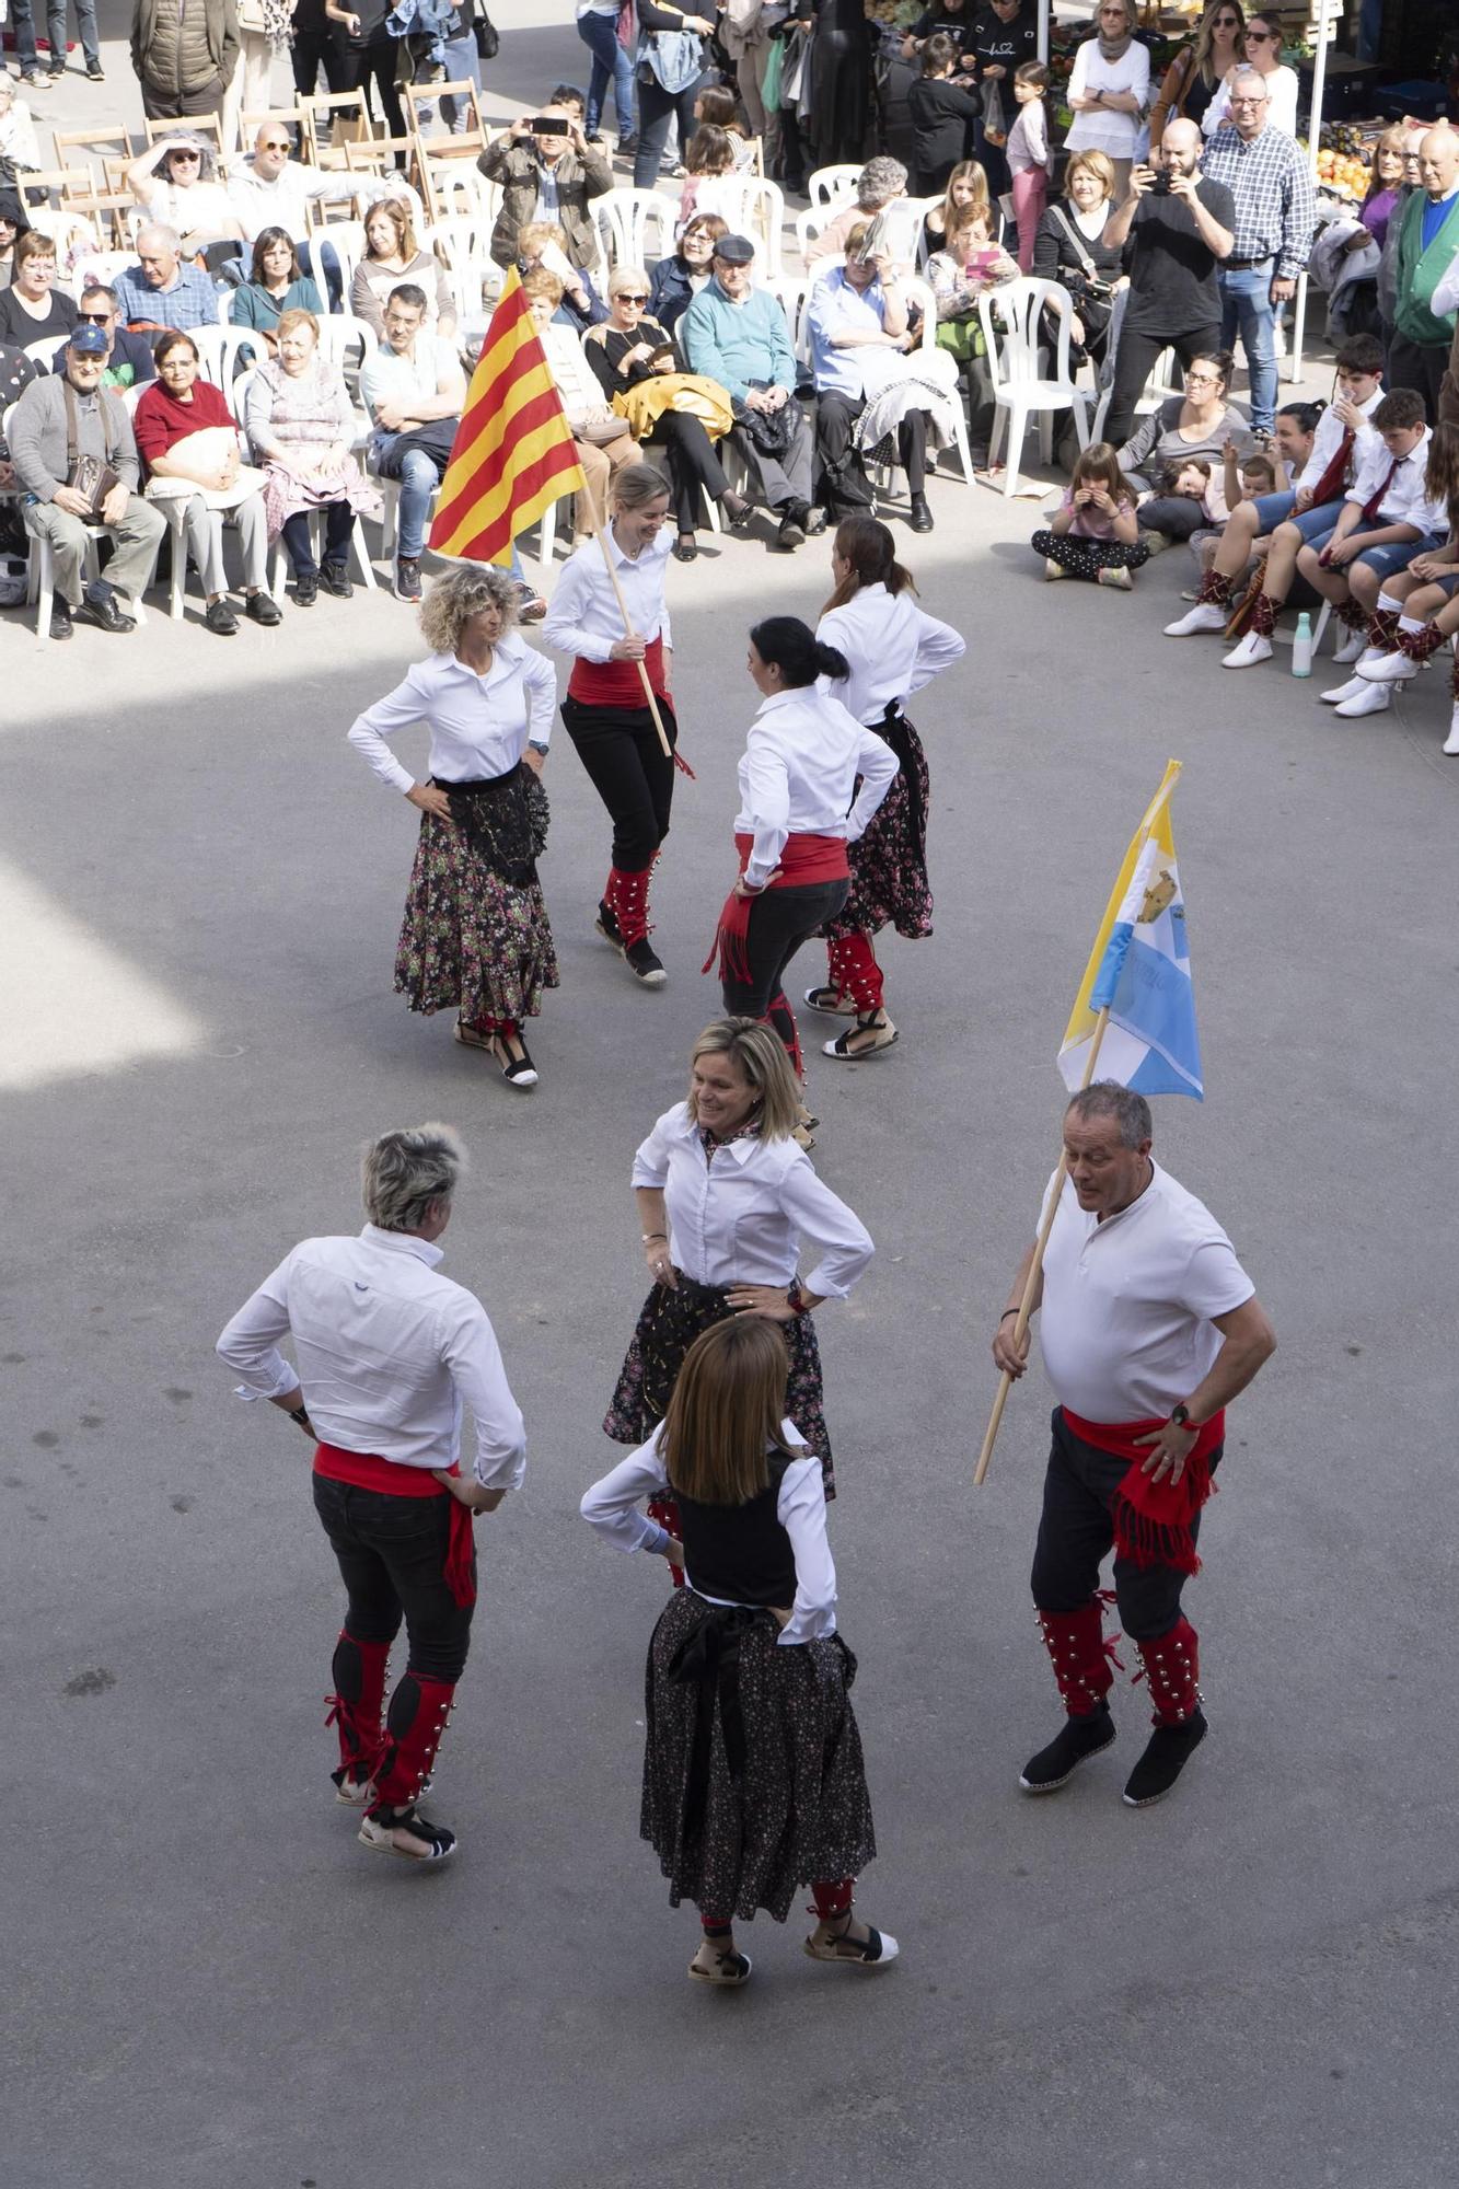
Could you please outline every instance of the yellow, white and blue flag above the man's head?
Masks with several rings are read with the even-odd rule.
[[[1095,1066],[1100,1079],[1117,1079],[1139,1094],[1205,1097],[1185,895],[1170,827],[1170,795],[1179,775],[1181,762],[1172,760],[1104,906],[1058,1051],[1058,1068],[1071,1090],[1084,1086],[1095,1022],[1108,1009]]]

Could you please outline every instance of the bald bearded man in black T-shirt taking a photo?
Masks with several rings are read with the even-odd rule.
[[[1183,366],[1220,346],[1216,267],[1236,243],[1236,201],[1225,182],[1196,175],[1200,129],[1174,120],[1150,166],[1130,175],[1130,195],[1104,230],[1106,245],[1126,245],[1130,298],[1115,352],[1104,440],[1130,438],[1139,392],[1161,350]]]

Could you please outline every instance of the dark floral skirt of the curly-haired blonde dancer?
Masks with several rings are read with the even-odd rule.
[[[499,781],[504,795],[491,801],[491,823],[473,819],[478,810],[486,814],[486,799],[458,797],[478,786],[440,786],[462,821],[421,814],[394,952],[394,992],[410,998],[412,1011],[453,1007],[473,1022],[535,1018],[541,992],[559,985],[537,880],[548,792],[526,766]]]

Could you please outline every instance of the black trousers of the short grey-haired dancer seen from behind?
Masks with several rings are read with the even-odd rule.
[[[348,1594],[344,1631],[357,1642],[394,1642],[405,1620],[407,1670],[460,1679],[475,1605],[458,1605],[445,1583],[449,1497],[388,1497],[313,1475],[320,1515]]]

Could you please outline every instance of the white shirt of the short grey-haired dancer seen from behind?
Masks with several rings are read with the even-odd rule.
[[[440,1248],[366,1224],[357,1239],[305,1239],[232,1318],[219,1355],[278,1399],[296,1383],[320,1443],[401,1467],[456,1467],[462,1412],[475,1480],[515,1491],[526,1473],[521,1410],[482,1302],[436,1274]],[[294,1337],[298,1375],[278,1351]]]

